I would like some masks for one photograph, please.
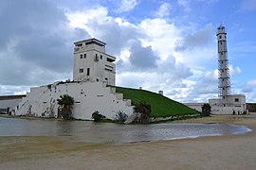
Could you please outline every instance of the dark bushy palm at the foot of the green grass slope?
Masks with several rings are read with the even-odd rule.
[[[139,104],[134,108],[134,111],[139,113],[139,116],[137,118],[138,123],[150,123],[151,106],[146,104],[145,101],[140,101]]]

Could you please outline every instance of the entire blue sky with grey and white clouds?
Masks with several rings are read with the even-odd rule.
[[[228,32],[232,93],[256,102],[256,0],[1,0],[0,95],[72,79],[73,42],[117,57],[117,85],[179,102],[217,97],[216,28]]]

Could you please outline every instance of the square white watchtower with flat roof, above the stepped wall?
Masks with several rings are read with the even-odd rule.
[[[116,83],[115,57],[105,53],[105,42],[95,38],[74,42],[74,81]]]

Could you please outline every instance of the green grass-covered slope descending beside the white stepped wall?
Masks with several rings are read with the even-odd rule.
[[[197,110],[178,103],[158,93],[144,90],[116,87],[117,93],[123,93],[123,98],[131,99],[132,105],[145,101],[151,105],[152,117],[169,117],[174,115],[198,114]]]

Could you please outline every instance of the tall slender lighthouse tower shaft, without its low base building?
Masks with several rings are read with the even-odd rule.
[[[218,81],[219,97],[222,107],[229,107],[230,78],[229,78],[229,59],[227,49],[227,33],[225,26],[220,25],[217,32],[218,39]]]

